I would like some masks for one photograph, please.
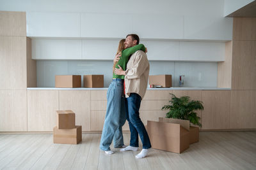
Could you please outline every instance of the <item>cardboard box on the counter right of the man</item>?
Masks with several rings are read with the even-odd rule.
[[[172,87],[172,75],[150,75],[149,85],[161,85],[161,87]]]

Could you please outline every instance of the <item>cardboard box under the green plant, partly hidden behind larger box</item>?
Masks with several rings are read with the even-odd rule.
[[[199,141],[199,127],[189,125],[189,120],[180,120],[175,118],[159,117],[159,122],[169,122],[173,124],[180,124],[182,127],[189,131],[189,144]]]

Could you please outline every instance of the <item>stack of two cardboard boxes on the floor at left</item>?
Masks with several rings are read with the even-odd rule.
[[[53,128],[53,143],[77,144],[82,141],[82,126],[76,125],[72,110],[57,111],[57,126]]]

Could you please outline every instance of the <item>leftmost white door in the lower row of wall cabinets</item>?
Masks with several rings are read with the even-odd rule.
[[[32,39],[32,59],[81,59],[81,39]]]

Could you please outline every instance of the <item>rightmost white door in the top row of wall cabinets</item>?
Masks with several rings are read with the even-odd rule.
[[[184,39],[232,40],[232,18],[192,16],[184,17]]]

